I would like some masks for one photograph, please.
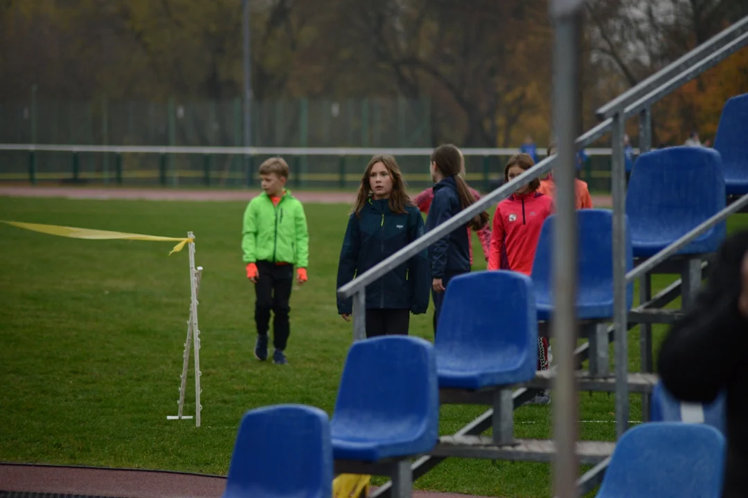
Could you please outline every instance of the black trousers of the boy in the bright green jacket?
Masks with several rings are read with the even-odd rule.
[[[289,299],[293,287],[293,265],[275,264],[270,261],[257,261],[257,284],[254,292],[257,301],[254,303],[254,321],[257,323],[257,334],[267,335],[270,326],[270,311],[273,312],[273,346],[275,349],[286,349],[288,336],[291,333],[289,323]]]

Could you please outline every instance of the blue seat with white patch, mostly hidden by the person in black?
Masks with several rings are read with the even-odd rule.
[[[662,382],[657,382],[652,391],[649,420],[652,422],[705,423],[726,434],[725,402],[725,393],[720,393],[717,399],[708,405],[681,402],[666,390]]]

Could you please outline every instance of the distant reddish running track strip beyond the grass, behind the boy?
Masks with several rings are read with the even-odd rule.
[[[257,196],[258,190],[177,190],[130,189],[121,187],[0,187],[0,196],[64,197],[67,199],[140,199],[151,201],[245,201]],[[298,190],[293,195],[309,204],[350,204],[355,192],[315,192]],[[592,196],[596,207],[613,205],[610,196]]]

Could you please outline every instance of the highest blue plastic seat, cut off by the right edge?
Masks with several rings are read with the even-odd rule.
[[[748,93],[732,97],[722,108],[714,149],[722,155],[727,194],[748,193]]]

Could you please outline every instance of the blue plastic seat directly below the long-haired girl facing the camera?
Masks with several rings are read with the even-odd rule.
[[[428,452],[438,440],[434,346],[385,336],[351,346],[331,421],[336,460],[379,461]]]

